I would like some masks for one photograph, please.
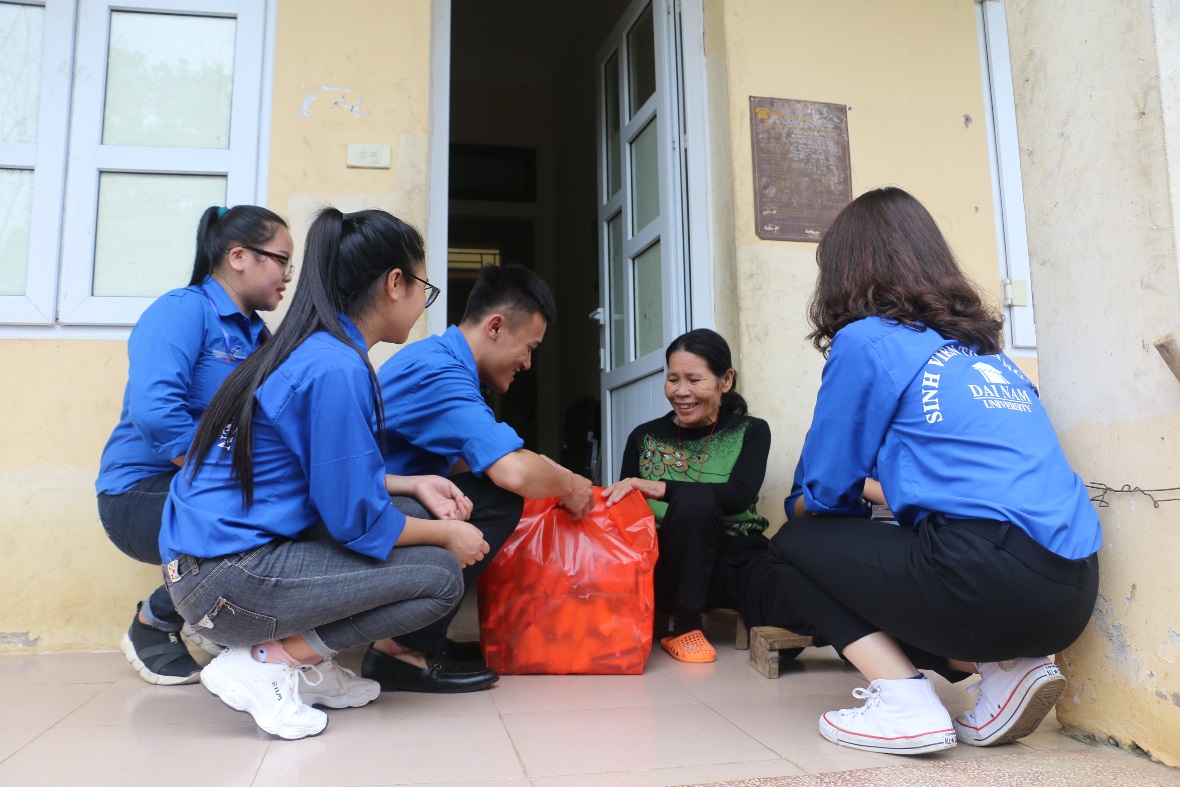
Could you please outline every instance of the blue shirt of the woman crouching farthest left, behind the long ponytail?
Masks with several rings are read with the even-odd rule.
[[[204,291],[202,291],[204,288]],[[127,340],[127,386],[119,424],[103,448],[94,488],[122,494],[176,470],[218,386],[258,348],[266,323],[247,317],[212,277],[165,293]]]

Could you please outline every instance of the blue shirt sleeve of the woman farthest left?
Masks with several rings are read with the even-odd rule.
[[[208,308],[199,297],[164,296],[144,311],[127,340],[127,412],[164,460],[186,454],[197,431],[189,388],[205,348]]]

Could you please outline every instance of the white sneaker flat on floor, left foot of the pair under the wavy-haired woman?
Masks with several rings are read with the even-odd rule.
[[[819,732],[840,746],[884,754],[925,754],[955,748],[951,715],[927,680],[873,681],[853,689],[860,708],[831,710]]]

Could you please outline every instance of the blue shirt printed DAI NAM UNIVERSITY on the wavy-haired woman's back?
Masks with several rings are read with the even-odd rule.
[[[880,317],[832,340],[795,473],[805,509],[864,516],[874,468],[903,525],[937,511],[1010,522],[1067,558],[1102,545],[1082,479],[1016,365]]]

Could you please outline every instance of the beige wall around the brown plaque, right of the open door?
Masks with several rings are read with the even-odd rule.
[[[712,113],[728,123],[713,127],[714,170],[733,173],[732,192],[715,197],[717,301],[730,301],[719,307],[719,326],[739,350],[740,389],[773,429],[760,507],[778,523],[822,367],[805,341],[815,244],[754,232],[749,97],[850,106],[853,195],[889,184],[913,194],[972,278],[998,299],[975,9],[945,0],[708,0],[706,26]],[[716,150],[722,138],[728,146]]]

